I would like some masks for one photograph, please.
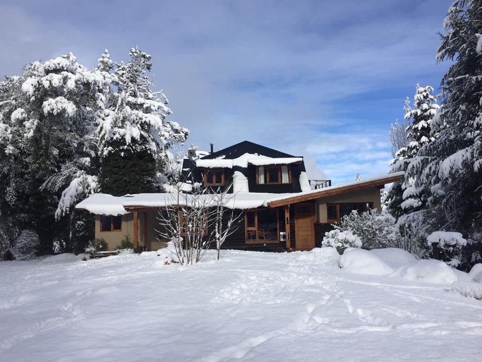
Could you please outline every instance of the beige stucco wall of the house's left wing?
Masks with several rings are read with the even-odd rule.
[[[158,233],[154,229],[158,229],[156,220],[157,211],[146,212],[147,216],[147,249],[157,250],[166,247],[166,240],[157,240]],[[131,241],[134,242],[134,213],[123,215],[121,231],[100,231],[100,222],[102,215],[95,215],[95,237],[103,238],[108,245],[109,250],[114,250],[115,247],[121,244],[121,240],[125,235],[131,237]],[[143,239],[143,227],[144,227],[144,213],[138,213],[138,241],[142,245]]]

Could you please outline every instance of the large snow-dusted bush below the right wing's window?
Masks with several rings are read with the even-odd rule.
[[[377,209],[358,214],[353,210],[334,225],[339,231],[349,231],[362,240],[364,249],[378,249],[397,245],[400,239],[395,218],[388,212],[378,213]]]

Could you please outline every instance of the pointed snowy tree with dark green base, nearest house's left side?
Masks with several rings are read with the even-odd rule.
[[[166,117],[172,112],[161,92],[152,91],[151,56],[138,48],[115,69],[117,93],[99,115],[100,189],[112,195],[152,192],[188,130]]]

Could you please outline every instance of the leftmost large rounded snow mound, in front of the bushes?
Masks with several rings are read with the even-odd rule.
[[[346,249],[338,264],[342,269],[353,274],[383,276],[393,273],[393,269],[385,261],[364,249]]]

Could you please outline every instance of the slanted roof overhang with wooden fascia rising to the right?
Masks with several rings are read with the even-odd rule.
[[[267,201],[267,206],[269,208],[277,208],[285,205],[296,204],[305,201],[311,201],[316,199],[321,199],[327,196],[339,195],[346,192],[358,191],[363,189],[368,189],[372,187],[384,186],[396,182],[402,178],[404,171],[392,172],[384,176],[375,176],[365,180],[355,181],[352,183],[331,186],[327,188],[322,188],[319,190],[306,191],[297,194],[291,194],[289,196],[280,196],[275,199]]]

